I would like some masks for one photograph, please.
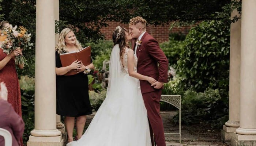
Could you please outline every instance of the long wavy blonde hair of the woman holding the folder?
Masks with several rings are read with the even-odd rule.
[[[63,53],[67,53],[67,46],[65,44],[65,37],[69,32],[74,32],[71,28],[64,28],[61,32],[60,32],[60,36],[59,36],[59,41],[55,47],[55,50],[59,53],[59,54],[63,54]],[[83,49],[82,45],[78,42],[78,40],[76,39],[76,43],[75,43],[75,47],[77,47],[79,50]]]

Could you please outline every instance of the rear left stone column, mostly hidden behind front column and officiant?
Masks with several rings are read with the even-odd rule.
[[[54,21],[57,20],[59,21],[60,16],[59,16],[59,0],[54,0]],[[55,34],[55,46],[58,43],[59,39],[59,33]],[[55,47],[54,47],[55,50]],[[56,115],[56,127],[58,130],[61,131],[62,134],[65,134],[65,127],[64,124],[60,121],[60,116]]]

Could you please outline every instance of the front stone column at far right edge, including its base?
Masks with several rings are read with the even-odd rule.
[[[232,146],[256,145],[256,1],[242,1],[240,127]]]

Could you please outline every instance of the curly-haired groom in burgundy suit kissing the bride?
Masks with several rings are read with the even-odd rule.
[[[147,21],[139,16],[130,19],[129,32],[133,38],[132,49],[138,57],[138,73],[158,80],[152,85],[147,81],[140,80],[140,89],[150,123],[152,146],[154,145],[153,133],[155,144],[165,146],[159,101],[163,83],[167,82],[168,59],[159,47],[158,42],[146,32],[146,23]]]

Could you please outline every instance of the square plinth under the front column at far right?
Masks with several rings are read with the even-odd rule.
[[[256,135],[235,134],[231,138],[231,146],[256,146]]]

